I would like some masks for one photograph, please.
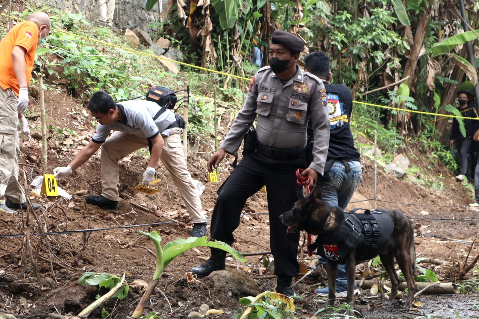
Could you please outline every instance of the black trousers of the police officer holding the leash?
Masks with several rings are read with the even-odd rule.
[[[299,233],[287,234],[287,227],[279,216],[296,202],[295,172],[305,166],[304,158],[271,159],[261,154],[243,153],[243,159],[218,195],[211,218],[211,238],[233,244],[233,231],[239,226],[246,200],[266,185],[274,274],[296,277],[299,274]]]

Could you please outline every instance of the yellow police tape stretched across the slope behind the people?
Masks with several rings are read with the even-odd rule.
[[[7,15],[7,14],[5,14],[5,13],[2,13],[1,15],[4,16],[4,17],[10,18],[10,19],[15,19],[15,20],[22,20],[22,21],[24,21],[23,19],[20,19],[20,18],[18,18],[18,17],[13,17],[13,16]],[[144,55],[144,56],[155,57],[155,58],[160,59],[160,60],[175,62],[175,63],[181,64],[181,65],[185,65],[185,66],[188,66],[188,67],[191,67],[191,68],[197,68],[197,69],[200,69],[200,70],[209,71],[209,72],[217,73],[217,74],[221,74],[221,75],[226,75],[226,76],[230,76],[230,77],[233,77],[233,78],[238,78],[238,79],[241,79],[241,80],[251,80],[251,78],[245,78],[245,77],[241,77],[241,76],[239,76],[239,75],[229,74],[229,73],[221,72],[221,71],[214,70],[214,69],[211,69],[211,68],[198,67],[198,66],[193,65],[193,64],[189,64],[189,63],[184,63],[184,62],[172,60],[172,59],[169,59],[169,58],[167,58],[167,57],[155,56],[155,55],[153,55],[153,54],[149,54],[149,53],[146,53],[146,52],[141,52],[141,51],[134,50],[134,49],[127,48],[127,47],[123,47],[123,46],[113,45],[113,44],[111,44],[111,43],[104,42],[104,41],[100,41],[100,40],[93,39],[93,38],[89,38],[89,37],[86,37],[86,36],[83,36],[83,35],[73,34],[73,33],[70,33],[70,32],[68,32],[68,31],[63,31],[63,30],[59,30],[59,29],[55,29],[55,28],[52,28],[51,30],[56,31],[56,32],[60,32],[60,33],[63,33],[63,34],[68,34],[68,35],[76,36],[76,37],[78,37],[78,38],[80,38],[80,39],[85,39],[85,40],[90,40],[90,41],[93,41],[93,42],[97,42],[97,43],[103,44],[103,45],[105,45],[105,46],[112,46],[112,47],[115,47],[115,48],[118,48],[118,49],[130,51],[130,52],[133,52],[133,53],[142,54],[142,55]],[[411,113],[418,113],[418,114],[441,116],[442,118],[438,119],[438,121],[441,120],[441,119],[447,118],[447,117],[453,117],[453,118],[455,117],[455,118],[462,118],[462,119],[479,120],[479,116],[478,116],[478,117],[464,117],[464,116],[457,116],[457,115],[451,115],[451,114],[438,114],[438,113],[430,113],[430,112],[422,112],[422,111],[415,111],[415,110],[400,109],[400,108],[392,107],[392,106],[379,105],[379,104],[366,103],[366,102],[359,102],[359,101],[353,101],[353,103],[365,104],[365,105],[376,106],[376,107],[382,107],[382,108],[386,108],[386,109],[397,110],[397,111],[400,111],[400,112],[411,112]]]

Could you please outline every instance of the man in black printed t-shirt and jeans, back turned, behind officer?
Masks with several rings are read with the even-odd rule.
[[[361,180],[359,152],[354,147],[351,133],[353,96],[344,84],[331,84],[330,59],[324,52],[313,52],[305,59],[305,70],[321,79],[326,88],[328,112],[330,116],[330,142],[328,157],[324,167],[323,198],[329,205],[345,209]],[[308,123],[311,127],[311,120]],[[308,127],[308,128],[309,128]],[[309,132],[309,131],[308,131]],[[308,140],[311,135],[308,134]],[[311,138],[312,139],[312,138]],[[319,247],[318,249],[323,249]],[[320,263],[326,261],[319,257]],[[346,296],[347,280],[344,265],[338,265],[336,276],[336,296]],[[328,287],[316,289],[319,296],[328,296]],[[354,294],[359,293],[354,284]]]

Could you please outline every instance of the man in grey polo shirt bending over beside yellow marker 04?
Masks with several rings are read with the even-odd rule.
[[[170,172],[194,223],[192,237],[205,236],[205,213],[200,195],[186,167],[180,139],[182,128],[171,110],[155,102],[131,100],[115,103],[105,91],[97,91],[88,103],[91,116],[99,123],[90,143],[82,148],[67,167],[54,170],[56,178],[71,174],[102,147],[102,194],[86,196],[88,204],[116,209],[118,205],[118,161],[140,148],[150,148],[150,160],[143,173],[143,186],[155,179],[158,161]],[[108,137],[110,132],[115,132]],[[108,138],[107,138],[108,137]]]

